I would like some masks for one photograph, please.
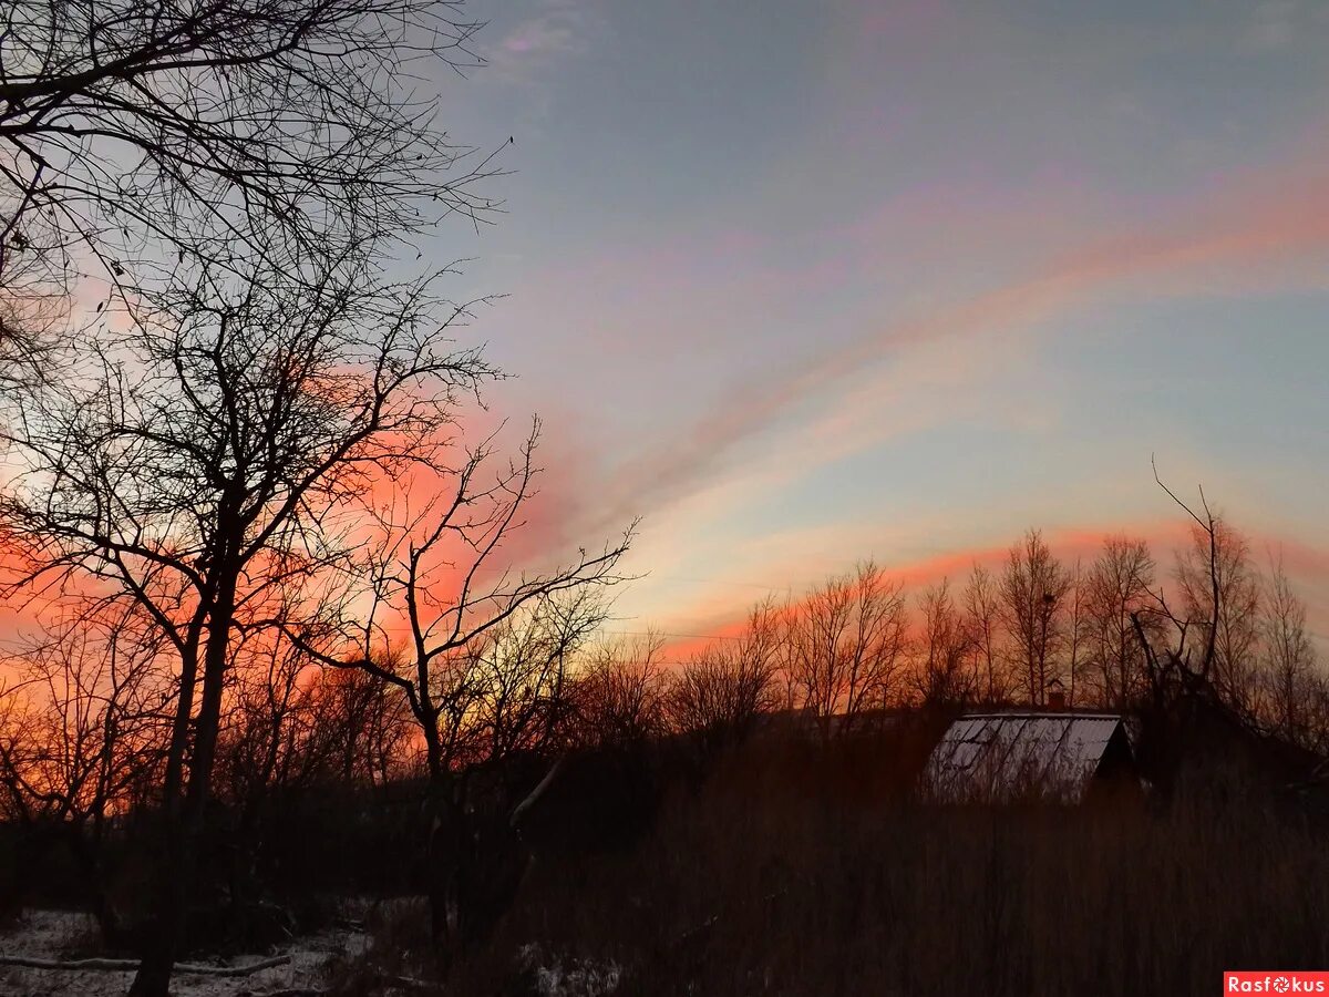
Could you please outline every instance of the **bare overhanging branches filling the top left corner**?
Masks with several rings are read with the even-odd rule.
[[[299,258],[478,217],[488,161],[449,144],[421,85],[477,64],[459,7],[7,4],[0,287],[62,284],[89,265],[112,286],[181,263],[294,277]]]

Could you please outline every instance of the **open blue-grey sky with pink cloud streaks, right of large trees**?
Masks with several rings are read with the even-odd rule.
[[[1029,526],[1166,568],[1179,493],[1329,626],[1329,5],[468,4],[465,335],[544,419],[550,549],[634,517],[625,631]]]

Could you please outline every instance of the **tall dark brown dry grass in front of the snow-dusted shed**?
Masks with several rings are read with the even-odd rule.
[[[860,762],[750,754],[637,849],[546,857],[451,992],[529,993],[532,941],[641,997],[1204,994],[1329,965],[1322,832],[1239,775],[1166,808],[940,810]]]

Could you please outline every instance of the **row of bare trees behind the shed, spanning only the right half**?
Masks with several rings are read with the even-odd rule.
[[[1054,685],[1069,707],[1132,710],[1159,681],[1151,655],[1175,642],[1199,663],[1212,635],[1217,695],[1252,724],[1322,750],[1329,679],[1305,604],[1281,561],[1261,570],[1217,517],[1212,548],[1196,524],[1170,569],[1127,536],[1067,564],[1029,530],[999,569],[974,564],[961,585],[942,578],[918,593],[867,562],[759,604],[739,635],[671,667],[659,665],[658,637],[601,649],[585,677],[593,727],[742,732],[758,714],[787,711],[829,738],[897,709],[1042,707]]]

